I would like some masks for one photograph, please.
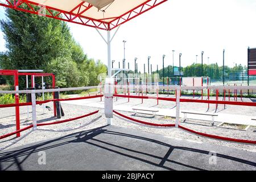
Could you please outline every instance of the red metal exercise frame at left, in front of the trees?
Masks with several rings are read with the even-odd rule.
[[[31,76],[31,84],[33,85],[33,78],[39,76],[51,76],[52,77],[52,88],[55,88],[55,75],[53,73],[19,73],[18,70],[10,70],[10,69],[0,69],[0,75],[6,76],[14,76],[14,88],[15,91],[19,90],[19,76]],[[52,93],[53,94],[53,93]],[[53,94],[54,98],[54,94]],[[15,104],[19,104],[19,94],[15,94]],[[55,104],[53,104],[54,116],[56,116],[56,108]],[[16,131],[20,130],[20,118],[19,118],[19,106],[15,106],[15,115],[16,115]],[[20,137],[20,133],[16,134],[16,137]]]

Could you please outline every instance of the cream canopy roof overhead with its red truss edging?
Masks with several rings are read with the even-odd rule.
[[[0,6],[112,30],[167,0],[0,0]]]

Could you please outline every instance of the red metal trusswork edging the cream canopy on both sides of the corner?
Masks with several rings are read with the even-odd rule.
[[[93,19],[87,16],[83,16],[82,14],[92,7],[92,5],[90,5],[87,2],[81,2],[79,5],[74,7],[69,12],[56,9],[54,7],[44,6],[42,4],[31,2],[28,0],[14,0],[13,2],[11,2],[10,0],[0,0],[0,6],[9,7],[11,9],[36,15],[42,15],[41,11],[46,10],[46,14],[44,14],[43,16],[46,16],[48,18],[59,19],[65,22],[81,24],[84,26],[94,27],[101,30],[113,30],[115,27],[118,27],[119,25],[128,22],[129,20],[145,13],[148,10],[151,10],[152,8],[166,1],[168,0],[148,0],[142,3],[141,5],[134,7],[134,9],[127,11],[127,13],[122,14],[121,16],[113,17],[113,20],[110,22],[105,22],[104,20],[112,18]],[[22,5],[26,5],[26,7]],[[33,7],[38,8],[35,9]],[[82,7],[84,7],[85,9],[81,11]],[[55,11],[57,14],[54,15],[53,11]],[[75,11],[76,13],[74,13]],[[59,17],[59,15],[62,15],[62,17]]]

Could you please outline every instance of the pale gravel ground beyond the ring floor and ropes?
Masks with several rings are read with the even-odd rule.
[[[98,102],[97,99],[93,99],[92,101]],[[114,102],[115,105],[139,105],[143,107],[152,107],[156,105],[156,101],[152,100],[144,100],[144,104],[141,105],[141,101],[139,100],[131,100],[131,102],[127,102],[126,98],[119,98],[118,101]],[[48,106],[51,106],[49,104]],[[80,106],[80,105],[71,105],[71,104],[62,104],[63,110],[65,112],[65,117],[61,118],[62,119],[68,119],[68,118],[73,118],[77,117],[80,115],[84,115],[87,113],[90,113],[92,111],[98,110],[97,108],[93,107],[88,107],[88,106]],[[160,104],[158,105],[159,108],[171,108],[174,107],[175,104],[173,102],[167,102],[167,101],[160,101]],[[206,110],[207,105],[206,104],[198,104],[198,106],[195,104],[187,103],[187,104],[181,104],[182,107],[188,107],[190,110],[191,108],[196,110],[203,109]],[[211,109],[214,106],[211,106]],[[234,111],[234,107],[236,109],[238,106],[227,106],[227,109],[225,110],[220,110],[221,112],[231,112],[232,109]],[[253,111],[252,111],[253,110]],[[122,114],[128,115],[130,117],[134,117],[137,119],[140,119],[142,121],[148,121],[148,122],[154,122],[154,123],[174,123],[173,121],[163,121],[160,118],[160,116],[156,116],[156,118],[148,118],[148,115],[138,115],[138,116],[133,116],[133,113],[129,112],[124,112],[120,111]],[[251,113],[253,112],[253,113]],[[53,122],[57,121],[56,118],[53,117],[53,112],[46,110],[46,114],[42,114],[43,109],[42,106],[37,106],[37,119],[38,123],[41,122]],[[237,109],[236,114],[239,113],[244,113],[243,115],[254,115],[256,113],[256,108],[243,108],[243,109]],[[30,114],[31,116],[31,114]],[[20,107],[20,128],[26,127],[28,125],[31,125],[31,117],[27,121],[27,107]],[[43,126],[39,127],[39,129],[54,129],[54,130],[63,130],[63,129],[69,129],[69,128],[75,128],[81,125],[84,125],[86,123],[92,122],[90,125],[82,127],[81,129],[73,130],[73,131],[65,131],[65,132],[53,132],[53,131],[33,131],[30,135],[28,135],[26,138],[20,140],[18,143],[14,144],[13,146],[10,146],[9,148],[17,147],[17,146],[22,146],[23,144],[28,144],[28,143],[33,143],[33,142],[38,142],[40,140],[46,140],[46,139],[51,139],[51,138],[56,138],[56,137],[61,137],[64,135],[68,135],[71,133],[76,133],[78,131],[84,131],[84,130],[89,130],[93,129],[96,127],[100,126],[105,126],[106,125],[106,118],[104,116],[104,110],[100,109],[100,112],[98,114],[92,115],[90,117],[78,119],[77,121],[72,121],[68,123],[61,123],[59,125],[51,125],[51,126]],[[175,139],[184,139],[184,140],[193,140],[195,142],[207,142],[207,143],[212,143],[212,144],[217,144],[221,146],[228,146],[228,147],[234,147],[234,148],[239,148],[241,150],[246,150],[246,151],[253,151],[256,152],[256,145],[253,144],[240,144],[240,143],[232,143],[232,142],[224,142],[221,140],[215,140],[215,139],[209,139],[209,138],[204,138],[204,137],[199,137],[194,134],[187,133],[183,130],[176,129],[176,128],[171,128],[171,129],[159,129],[159,128],[152,128],[152,127],[144,127],[140,125],[136,125],[131,122],[127,122],[123,118],[119,118],[117,116],[114,117],[113,119],[113,125],[115,126],[121,126],[121,127],[127,127],[127,128],[132,128],[132,129],[137,129],[141,131],[146,131],[148,133],[156,133],[156,134],[162,134],[166,135],[167,137],[175,138]],[[197,130],[203,133],[208,133],[208,134],[214,134],[214,135],[220,135],[223,137],[232,137],[232,138],[240,138],[240,139],[250,139],[250,140],[256,140],[256,127],[250,127],[249,130],[247,131],[242,131],[242,130],[234,130],[234,129],[224,129],[221,127],[216,127],[216,126],[210,126],[210,122],[195,122],[195,121],[186,121],[184,123],[181,123],[181,125],[185,127],[189,127],[189,129]],[[10,133],[12,131],[15,131],[15,109],[14,108],[1,108],[0,109],[0,135]],[[26,134],[28,132],[24,131],[22,135]],[[6,146],[10,142],[12,142],[15,139],[14,136],[0,140],[0,148]]]

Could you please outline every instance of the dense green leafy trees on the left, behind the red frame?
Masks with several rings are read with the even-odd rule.
[[[6,17],[0,22],[7,48],[0,53],[2,69],[43,69],[55,73],[60,87],[97,85],[97,75],[106,73],[100,60],[88,60],[67,23],[13,9],[6,9]],[[21,89],[24,79],[19,78]],[[7,81],[13,84],[13,78]]]

